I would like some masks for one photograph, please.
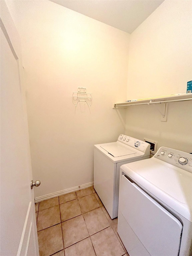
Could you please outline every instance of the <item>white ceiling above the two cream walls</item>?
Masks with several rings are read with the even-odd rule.
[[[50,1],[130,34],[164,2],[164,0]]]

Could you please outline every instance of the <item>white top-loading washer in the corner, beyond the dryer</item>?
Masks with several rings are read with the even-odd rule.
[[[94,145],[94,188],[112,219],[118,214],[120,166],[149,156],[149,143],[123,134],[116,142]]]

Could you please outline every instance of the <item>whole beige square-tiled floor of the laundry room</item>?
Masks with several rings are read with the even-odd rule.
[[[127,256],[93,187],[35,204],[40,256]]]

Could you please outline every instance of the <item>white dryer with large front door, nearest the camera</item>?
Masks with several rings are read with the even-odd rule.
[[[117,232],[130,256],[192,255],[192,155],[161,147],[120,170]]]

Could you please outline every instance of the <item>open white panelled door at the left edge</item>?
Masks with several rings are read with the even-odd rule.
[[[19,36],[1,3],[0,255],[39,255]],[[36,188],[38,189],[38,188]]]

